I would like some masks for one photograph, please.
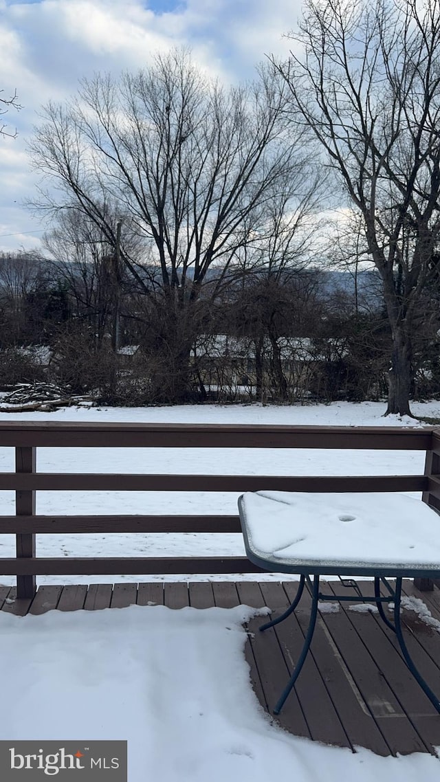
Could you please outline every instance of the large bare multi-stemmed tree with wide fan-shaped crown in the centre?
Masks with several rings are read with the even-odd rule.
[[[225,89],[188,53],[172,52],[121,81],[84,81],[67,106],[45,107],[31,152],[57,189],[40,207],[56,213],[74,204],[114,247],[108,203],[130,217],[146,266],[124,236],[121,264],[149,300],[150,333],[156,328],[153,341],[171,368],[160,380],[164,399],[186,394],[208,270],[226,268],[265,223],[274,192],[290,183],[294,199],[309,165],[302,132],[287,132],[287,93],[272,68],[254,84]]]

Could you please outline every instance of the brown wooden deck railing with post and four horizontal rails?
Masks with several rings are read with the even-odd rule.
[[[0,473],[0,490],[16,492],[16,515],[0,517],[16,557],[0,558],[0,575],[17,576],[18,597],[32,597],[42,575],[258,572],[243,557],[37,557],[36,534],[240,532],[238,515],[36,515],[37,491],[420,491],[440,510],[440,430],[431,428],[2,421],[0,445],[16,452],[16,471]],[[67,474],[36,472],[38,447],[423,450],[426,459],[424,475]]]

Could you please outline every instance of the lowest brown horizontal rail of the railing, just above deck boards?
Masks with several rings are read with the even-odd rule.
[[[153,576],[167,573],[258,573],[264,572],[246,557],[112,557],[23,558],[0,557],[2,576]]]

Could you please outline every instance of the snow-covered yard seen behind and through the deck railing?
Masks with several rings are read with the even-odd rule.
[[[414,414],[440,417],[440,402],[414,404]],[[23,421],[151,421],[240,424],[308,424],[402,426],[417,425],[409,418],[384,418],[384,404],[334,403],[290,407],[253,405],[194,405],[188,407],[66,408],[56,413],[0,413],[0,420]],[[386,475],[423,472],[420,451],[348,451],[305,449],[166,449],[127,448],[39,448],[37,468],[43,472],[146,472],[206,473],[229,475]],[[0,471],[13,471],[13,448],[0,448]],[[264,488],[262,486],[261,488]],[[417,497],[417,493],[413,493]],[[39,492],[37,512],[42,514],[234,514],[236,493],[217,492]],[[0,514],[14,513],[14,493],[0,492]],[[41,535],[37,538],[41,557],[121,556],[236,556],[243,555],[243,541],[233,534],[119,534]],[[14,556],[13,536],[0,536],[0,557]],[[265,576],[271,579],[273,576]],[[187,576],[168,576],[181,581]],[[193,576],[197,578],[197,576]],[[240,574],[242,579],[254,576]],[[200,576],[206,580],[207,576]],[[63,576],[63,583],[112,583],[114,581],[163,580],[160,576]],[[0,583],[14,579],[0,575]],[[60,583],[60,576],[45,576],[38,583]]]

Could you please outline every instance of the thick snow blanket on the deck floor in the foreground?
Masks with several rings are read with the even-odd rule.
[[[438,780],[440,762],[431,755],[352,753],[272,724],[243,655],[242,623],[255,613],[164,606],[0,612],[0,662],[9,672],[0,734],[8,741],[127,740],[128,782]]]

